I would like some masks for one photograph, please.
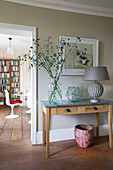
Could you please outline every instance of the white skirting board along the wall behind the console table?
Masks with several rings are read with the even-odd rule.
[[[113,129],[113,126],[112,126],[112,129]],[[99,136],[105,136],[108,134],[109,134],[108,125],[100,125]],[[50,130],[50,142],[70,140],[70,139],[75,139],[74,128]],[[42,144],[42,131],[37,132],[37,144]]]

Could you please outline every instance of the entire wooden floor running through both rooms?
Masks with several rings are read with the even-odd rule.
[[[75,140],[50,143],[50,158],[43,145],[32,146],[30,115],[17,107],[20,117],[6,120],[10,108],[0,108],[0,170],[113,170],[113,149],[108,136],[94,138],[87,149]]]

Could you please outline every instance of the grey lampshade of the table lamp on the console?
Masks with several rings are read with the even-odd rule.
[[[109,80],[107,67],[87,67],[84,80]]]

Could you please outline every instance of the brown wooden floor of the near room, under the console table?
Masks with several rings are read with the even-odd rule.
[[[113,170],[113,149],[108,137],[94,139],[93,146],[79,148],[75,140],[50,144],[50,159],[43,145],[32,146],[30,140],[0,143],[1,170]]]

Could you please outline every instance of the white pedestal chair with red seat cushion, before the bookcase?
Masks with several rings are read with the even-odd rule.
[[[6,105],[10,106],[11,107],[11,114],[6,116],[5,118],[6,119],[15,119],[15,118],[18,118],[19,115],[15,115],[13,113],[13,109],[15,106],[18,106],[18,105],[21,105],[22,101],[21,100],[15,100],[15,101],[10,101],[9,100],[9,92],[7,90],[4,90],[5,91],[5,96],[6,96]]]

